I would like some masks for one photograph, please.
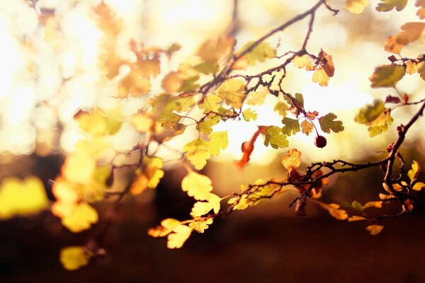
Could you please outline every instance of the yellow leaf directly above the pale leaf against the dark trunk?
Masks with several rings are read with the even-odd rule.
[[[186,152],[186,159],[197,169],[201,170],[207,164],[207,160],[211,157],[210,143],[205,139],[195,139],[185,146],[183,151]]]

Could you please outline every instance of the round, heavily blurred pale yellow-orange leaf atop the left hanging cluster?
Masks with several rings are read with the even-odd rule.
[[[89,184],[95,170],[96,160],[88,152],[77,150],[65,159],[62,175],[71,182]]]

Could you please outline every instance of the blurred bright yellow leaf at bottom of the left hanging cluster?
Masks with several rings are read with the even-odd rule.
[[[86,202],[80,202],[74,206],[72,213],[62,218],[62,224],[72,231],[78,233],[89,229],[91,224],[98,221],[96,209]]]

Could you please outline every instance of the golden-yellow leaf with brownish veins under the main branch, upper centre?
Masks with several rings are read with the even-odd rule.
[[[245,97],[245,82],[238,79],[228,79],[220,88],[217,89],[217,95],[225,100],[225,103],[232,108],[241,108]]]

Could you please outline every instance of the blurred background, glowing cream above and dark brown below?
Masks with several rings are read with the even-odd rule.
[[[233,0],[104,0],[123,20],[119,40],[130,39],[146,47],[167,47],[176,42],[176,52],[168,68],[198,46],[227,30],[232,21]],[[272,28],[306,11],[316,1],[239,0],[237,21],[238,50],[246,42],[261,37]],[[383,50],[385,39],[399,32],[403,23],[418,21],[414,1],[404,11],[378,13],[379,1],[369,1],[360,15],[341,11],[332,16],[321,8],[314,23],[307,50],[317,54],[322,48],[331,54],[335,76],[329,86],[311,81],[311,73],[293,67],[283,88],[302,93],[307,110],[319,114],[334,112],[344,122],[345,131],[327,136],[328,145],[318,149],[314,136],[289,137],[290,148],[302,151],[303,163],[341,158],[351,162],[377,160],[385,156],[394,141],[395,128],[405,123],[416,108],[392,112],[395,125],[370,139],[364,125],[354,122],[358,109],[375,98],[395,95],[389,88],[372,89],[368,78],[373,69],[387,64],[390,53]],[[96,0],[14,0],[0,1],[0,179],[38,176],[45,187],[60,173],[64,156],[83,137],[74,122],[79,109],[119,107],[131,115],[142,108],[146,98],[114,98],[117,80],[103,79],[98,67],[102,50],[92,8]],[[329,1],[344,8],[345,1]],[[278,46],[278,55],[298,50],[307,31],[307,19],[269,42]],[[404,48],[404,57],[423,52],[425,40]],[[122,51],[125,56],[125,50]],[[253,73],[273,67],[276,61],[258,64]],[[166,68],[164,68],[166,69]],[[167,71],[164,72],[166,74]],[[159,80],[160,81],[160,80]],[[159,85],[159,84],[158,84]],[[418,74],[397,84],[411,100],[423,98],[424,82]],[[154,92],[155,89],[152,91]],[[256,125],[279,125],[280,117],[271,111],[277,98],[266,96],[256,107]],[[244,170],[233,164],[241,158],[240,144],[250,139],[256,125],[227,121],[215,127],[228,130],[229,147],[212,158],[203,173],[210,176],[220,196],[239,191],[241,183],[257,178],[285,175],[280,158],[283,150],[256,142],[251,161]],[[409,130],[402,148],[407,164],[412,159],[425,164],[424,119]],[[193,139],[193,129],[167,144],[181,149]],[[140,139],[130,122],[124,122],[111,138],[117,151],[131,149]],[[337,221],[317,205],[309,204],[307,217],[295,216],[288,203],[295,195],[283,195],[244,212],[217,221],[203,235],[192,236],[180,250],[168,250],[163,239],[149,238],[147,229],[165,217],[185,219],[193,202],[180,190],[185,171],[173,162],[173,151],[161,151],[166,175],[155,191],[126,197],[118,210],[116,223],[106,234],[108,255],[94,265],[66,272],[58,260],[62,246],[79,245],[103,229],[102,222],[92,231],[72,234],[48,212],[30,218],[0,221],[1,282],[425,282],[425,220],[409,216],[384,223],[384,231],[369,236],[363,224]],[[423,178],[424,175],[421,175]],[[380,171],[335,176],[324,188],[324,201],[377,200]],[[289,193],[290,194],[290,193]],[[95,204],[99,214],[108,203]],[[386,210],[385,210],[386,209]],[[397,213],[395,207],[385,207]],[[373,212],[374,213],[374,212]],[[382,210],[377,212],[382,213]]]

